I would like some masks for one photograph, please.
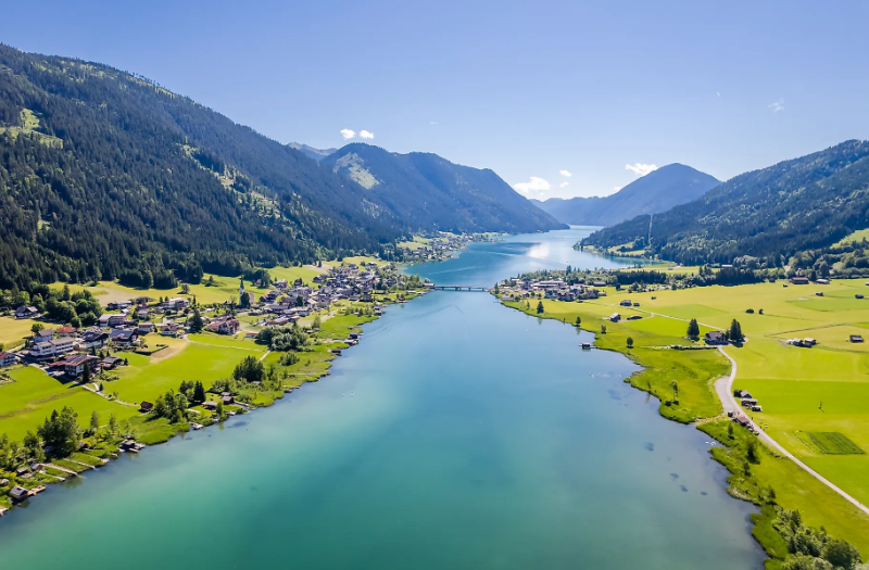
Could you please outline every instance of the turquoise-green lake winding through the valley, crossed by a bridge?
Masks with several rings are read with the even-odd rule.
[[[581,231],[411,270],[612,264],[570,249]],[[0,519],[0,568],[760,568],[706,438],[590,339],[486,293],[392,306],[323,381]]]

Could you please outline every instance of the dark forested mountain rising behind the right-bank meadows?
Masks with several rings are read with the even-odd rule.
[[[753,256],[778,267],[796,252],[831,245],[865,228],[869,141],[849,140],[742,174],[700,200],[603,229],[584,243],[633,242],[631,249],[645,246],[684,264]]]

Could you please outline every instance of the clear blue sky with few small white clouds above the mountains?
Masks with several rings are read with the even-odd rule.
[[[0,41],[140,73],[281,142],[352,130],[550,198],[869,138],[867,22],[857,0],[13,0]]]

